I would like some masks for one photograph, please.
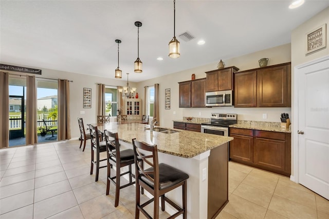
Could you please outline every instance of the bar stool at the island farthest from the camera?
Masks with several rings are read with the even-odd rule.
[[[100,166],[100,162],[106,160],[106,158],[100,159],[100,153],[106,152],[106,142],[99,141],[100,136],[99,136],[97,126],[89,125],[89,131],[90,131],[90,140],[92,141],[92,145],[91,145],[92,160],[91,160],[91,166],[90,166],[90,175],[93,174],[94,165],[96,165],[95,181],[98,181],[99,169],[107,167],[107,165]],[[96,152],[96,160],[94,160],[95,152]]]

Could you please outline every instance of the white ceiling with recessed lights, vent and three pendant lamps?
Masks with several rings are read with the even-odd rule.
[[[168,57],[173,1],[0,1],[0,61],[134,82],[290,43],[291,30],[329,6],[307,1],[176,1],[180,58]],[[134,73],[139,58],[143,72]],[[188,31],[195,39],[185,42]],[[206,43],[198,45],[203,39]],[[157,58],[162,57],[162,61]]]

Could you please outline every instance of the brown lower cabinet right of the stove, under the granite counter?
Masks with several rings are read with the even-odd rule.
[[[290,133],[230,128],[232,161],[290,176]]]

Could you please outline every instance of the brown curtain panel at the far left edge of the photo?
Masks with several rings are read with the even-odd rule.
[[[9,146],[9,74],[0,72],[0,148]]]

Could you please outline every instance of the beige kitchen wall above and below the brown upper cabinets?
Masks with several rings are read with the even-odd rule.
[[[184,56],[184,54],[181,54]],[[229,60],[223,60],[225,67],[236,66],[240,70],[248,70],[258,68],[258,60],[261,58],[269,58],[268,65],[275,65],[285,62],[290,62],[291,50],[290,44],[281,45],[274,48],[265,49],[262,51],[246,54],[241,57],[236,57]],[[219,62],[220,60],[218,60]],[[139,82],[137,89],[140,97],[144,97],[144,86],[159,84],[159,99],[160,99],[160,125],[165,127],[173,127],[172,120],[182,119],[183,116],[193,116],[201,118],[210,118],[211,113],[236,113],[239,120],[255,120],[280,122],[281,113],[291,114],[291,108],[234,108],[233,106],[212,107],[212,108],[179,108],[178,107],[178,82],[191,80],[192,74],[195,78],[205,78],[205,71],[217,69],[217,64],[211,63],[197,68],[187,69],[180,72],[175,72],[159,78],[150,79]],[[171,88],[171,108],[165,109],[165,89]],[[176,114],[174,114],[176,113]],[[267,119],[263,119],[263,113],[267,114]],[[199,114],[201,114],[199,116]]]

